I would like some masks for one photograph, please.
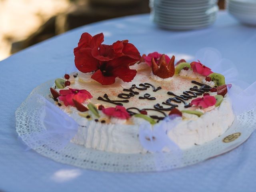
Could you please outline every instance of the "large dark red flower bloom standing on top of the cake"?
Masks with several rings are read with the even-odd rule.
[[[104,35],[91,36],[83,33],[78,47],[74,48],[75,65],[84,73],[94,72],[91,78],[102,85],[110,85],[118,77],[130,82],[137,71],[130,65],[140,61],[141,56],[136,47],[128,40],[117,41],[112,45],[101,44]]]

